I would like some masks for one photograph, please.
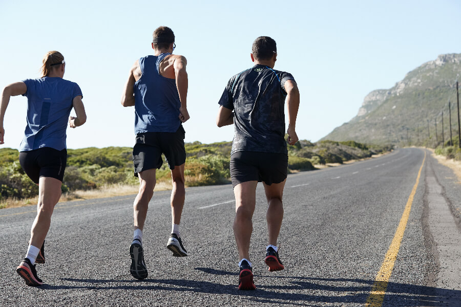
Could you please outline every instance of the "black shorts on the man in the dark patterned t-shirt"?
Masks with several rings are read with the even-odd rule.
[[[247,181],[271,185],[285,180],[288,156],[285,153],[237,151],[231,156],[230,166],[234,187]]]

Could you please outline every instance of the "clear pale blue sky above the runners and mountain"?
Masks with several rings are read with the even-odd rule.
[[[253,65],[253,40],[267,35],[277,41],[275,69],[300,88],[298,136],[317,141],[354,117],[369,92],[439,54],[460,53],[460,20],[455,0],[1,1],[0,86],[39,77],[44,54],[60,51],[88,115],[68,129],[68,148],[133,146],[123,85],[134,61],[153,53],[154,29],[169,26],[175,54],[188,61],[185,141],[231,141],[233,126],[215,124],[217,101],[228,79]],[[19,146],[26,109],[25,97],[11,99],[2,146]]]

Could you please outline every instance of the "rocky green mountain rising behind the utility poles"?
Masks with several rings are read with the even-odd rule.
[[[461,75],[461,54],[439,55],[409,72],[391,89],[369,93],[357,116],[334,128],[322,140],[400,145],[441,143],[442,111],[444,139],[449,139],[449,99],[454,139],[458,130],[455,81],[458,74]]]

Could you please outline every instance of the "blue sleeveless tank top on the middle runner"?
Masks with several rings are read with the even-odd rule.
[[[176,80],[158,72],[160,62],[171,53],[139,59],[141,78],[134,84],[135,133],[176,132],[179,120],[179,93]]]

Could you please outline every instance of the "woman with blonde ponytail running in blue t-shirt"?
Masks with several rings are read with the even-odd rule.
[[[38,185],[37,216],[32,225],[26,257],[16,268],[28,286],[39,286],[35,264],[45,263],[44,243],[51,214],[61,196],[67,162],[66,128],[85,123],[87,115],[77,83],[64,80],[64,56],[57,51],[43,58],[42,76],[5,87],[0,104],[0,144],[4,144],[3,121],[11,96],[27,97],[27,126],[19,146],[19,163]],[[77,117],[69,116],[74,108]]]

